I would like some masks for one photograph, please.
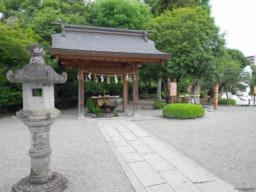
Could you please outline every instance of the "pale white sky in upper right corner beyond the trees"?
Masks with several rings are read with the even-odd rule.
[[[256,0],[210,0],[211,16],[227,32],[227,48],[256,56]]]

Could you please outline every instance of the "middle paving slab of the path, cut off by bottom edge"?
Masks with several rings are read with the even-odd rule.
[[[167,170],[165,172],[160,172],[160,175],[176,192],[202,192],[178,170]]]

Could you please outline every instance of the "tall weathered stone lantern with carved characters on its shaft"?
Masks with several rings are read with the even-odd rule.
[[[60,116],[54,108],[54,83],[64,83],[67,74],[58,75],[43,58],[46,48],[38,43],[30,45],[29,65],[7,72],[11,82],[23,83],[23,109],[17,112],[30,131],[31,172],[30,175],[12,186],[12,191],[63,191],[68,180],[50,167],[51,124]]]

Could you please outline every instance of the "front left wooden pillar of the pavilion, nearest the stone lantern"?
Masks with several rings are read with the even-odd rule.
[[[78,119],[84,118],[84,73],[83,62],[79,62],[78,71]]]

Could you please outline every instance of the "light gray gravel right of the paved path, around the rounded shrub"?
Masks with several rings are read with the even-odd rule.
[[[169,119],[152,103],[140,101],[140,113],[158,120],[137,125],[233,187],[256,188],[255,106],[218,106],[197,119]]]

